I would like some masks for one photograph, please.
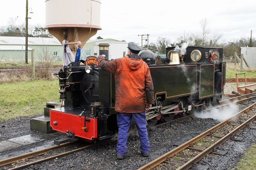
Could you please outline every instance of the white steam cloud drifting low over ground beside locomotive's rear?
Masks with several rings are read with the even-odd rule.
[[[223,120],[234,116],[237,112],[238,106],[230,104],[219,109],[212,107],[210,111],[201,111],[200,113],[196,112],[194,115],[198,118],[213,118],[222,122]]]

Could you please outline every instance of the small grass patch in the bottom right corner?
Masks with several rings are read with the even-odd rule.
[[[256,169],[256,144],[253,144],[243,155],[235,169]]]

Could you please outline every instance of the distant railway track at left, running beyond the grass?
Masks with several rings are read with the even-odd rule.
[[[42,66],[42,65],[36,65],[35,69],[60,69],[62,68],[62,65],[49,65],[49,66]],[[0,67],[0,72],[11,72],[11,71],[24,71],[24,70],[31,70],[31,66],[11,66],[11,67]]]

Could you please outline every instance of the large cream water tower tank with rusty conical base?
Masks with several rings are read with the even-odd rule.
[[[69,42],[82,46],[100,27],[100,0],[46,0],[46,28],[60,42],[67,35]],[[70,46],[75,53],[75,45]]]

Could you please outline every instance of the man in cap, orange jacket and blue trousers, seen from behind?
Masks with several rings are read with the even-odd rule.
[[[99,66],[115,75],[115,111],[118,125],[117,159],[126,157],[126,142],[132,117],[138,128],[142,156],[148,157],[150,151],[145,108],[148,110],[154,104],[154,88],[150,69],[138,55],[140,50],[137,44],[129,42],[126,57],[112,61],[106,61],[104,55],[98,57]]]

